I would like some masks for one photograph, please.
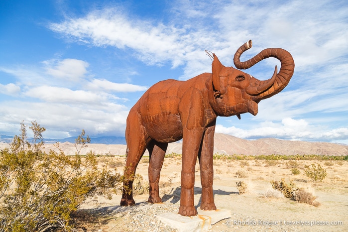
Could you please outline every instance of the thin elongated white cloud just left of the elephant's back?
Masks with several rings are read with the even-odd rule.
[[[91,89],[102,89],[115,92],[136,92],[147,90],[147,87],[145,86],[138,86],[128,83],[115,83],[105,79],[93,79],[93,81],[90,82],[87,86]]]

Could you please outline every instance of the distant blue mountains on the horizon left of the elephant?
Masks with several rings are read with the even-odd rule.
[[[32,138],[28,138],[30,141]],[[45,143],[63,143],[63,142],[71,142],[75,143],[76,137],[69,137],[63,139],[52,139],[52,138],[44,138],[43,141]],[[10,143],[13,140],[13,136],[0,135],[0,142]],[[125,137],[117,137],[117,136],[103,136],[97,138],[91,138],[91,143],[101,143],[101,144],[126,144]]]

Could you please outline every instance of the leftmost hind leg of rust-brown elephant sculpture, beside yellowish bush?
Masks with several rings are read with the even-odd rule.
[[[127,119],[128,120],[128,119]],[[121,206],[131,206],[134,205],[133,199],[133,181],[135,176],[135,169],[144,154],[147,144],[150,141],[149,136],[146,135],[142,127],[128,127],[126,128],[126,142],[127,142],[127,159],[123,171],[123,188],[122,188],[122,198],[120,205]],[[130,130],[131,133],[130,133]]]

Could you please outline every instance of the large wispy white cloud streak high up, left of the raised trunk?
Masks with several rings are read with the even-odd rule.
[[[180,29],[130,20],[116,8],[96,10],[86,17],[52,23],[50,29],[95,46],[129,47],[140,51],[139,58],[149,64],[168,60],[168,53],[181,56],[184,50],[182,46],[178,49],[177,40],[182,33]],[[173,63],[179,65],[182,62]]]

